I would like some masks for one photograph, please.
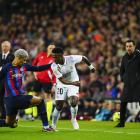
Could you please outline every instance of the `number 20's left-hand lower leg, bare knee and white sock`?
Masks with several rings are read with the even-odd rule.
[[[56,108],[54,109],[53,114],[52,114],[52,127],[54,129],[56,128],[56,123],[59,119],[60,112],[63,108],[63,103],[64,103],[63,100],[57,100],[56,101]]]

